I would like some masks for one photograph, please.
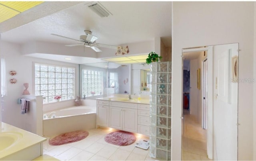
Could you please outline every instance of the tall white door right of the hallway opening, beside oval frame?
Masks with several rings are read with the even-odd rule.
[[[234,56],[238,56],[238,43],[213,47],[214,160],[237,160],[238,84],[231,82]]]

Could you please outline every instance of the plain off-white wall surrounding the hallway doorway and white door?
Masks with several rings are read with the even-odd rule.
[[[172,160],[181,159],[182,48],[239,43],[239,78],[253,75],[253,2],[173,2]],[[238,159],[252,160],[253,84],[238,84]]]

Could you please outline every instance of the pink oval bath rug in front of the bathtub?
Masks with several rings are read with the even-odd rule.
[[[60,134],[52,139],[49,139],[50,145],[63,145],[67,143],[73,143],[76,141],[80,141],[86,138],[89,135],[89,132],[78,130],[74,132],[67,132],[64,134]]]

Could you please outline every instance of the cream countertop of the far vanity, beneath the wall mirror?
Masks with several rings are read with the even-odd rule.
[[[149,104],[149,99],[142,99],[142,98],[140,100],[138,100],[138,98],[132,98],[131,100],[129,100],[128,98],[124,98],[124,97],[110,96],[110,97],[97,98],[97,100],[108,100],[108,101],[136,103],[136,104]]]

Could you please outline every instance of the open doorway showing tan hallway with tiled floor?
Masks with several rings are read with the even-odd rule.
[[[207,50],[207,49],[206,49]],[[182,160],[208,160],[207,131],[203,129],[203,88],[204,60],[207,51],[190,51],[183,53],[183,135]],[[189,62],[189,63],[188,63]],[[189,64],[189,67],[187,67]],[[206,66],[205,66],[206,67]],[[189,84],[186,73],[190,73]],[[187,89],[189,85],[189,90]],[[184,107],[186,95],[189,95],[189,108]]]

